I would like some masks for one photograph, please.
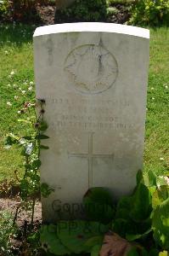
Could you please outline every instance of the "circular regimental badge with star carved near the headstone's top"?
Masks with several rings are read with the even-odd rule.
[[[115,56],[101,43],[87,44],[70,52],[65,60],[65,73],[76,90],[96,94],[115,83],[118,66]]]

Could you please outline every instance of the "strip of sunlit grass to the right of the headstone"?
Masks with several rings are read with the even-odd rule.
[[[169,172],[169,29],[150,31],[145,170]]]

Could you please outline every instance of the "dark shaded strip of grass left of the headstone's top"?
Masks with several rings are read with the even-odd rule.
[[[21,23],[0,25],[0,44],[15,43],[17,46],[32,42],[33,33],[39,25],[25,25]]]

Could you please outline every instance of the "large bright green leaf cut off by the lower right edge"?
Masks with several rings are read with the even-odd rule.
[[[169,250],[169,198],[157,206],[153,212],[152,229],[154,239],[162,248]]]

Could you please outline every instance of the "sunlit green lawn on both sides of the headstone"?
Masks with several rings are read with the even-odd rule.
[[[8,132],[29,133],[17,122],[25,101],[35,97],[32,34],[35,26],[0,26],[0,181],[22,175],[19,149],[4,149]],[[149,88],[144,171],[169,172],[169,29],[150,30]]]

